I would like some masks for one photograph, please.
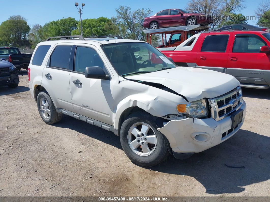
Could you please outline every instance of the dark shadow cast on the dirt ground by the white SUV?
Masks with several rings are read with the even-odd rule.
[[[72,117],[64,116],[63,120],[55,126],[70,128],[122,149],[119,137],[112,132]],[[230,168],[225,164],[245,166],[245,168]],[[151,170],[194,177],[209,194],[240,193],[245,191],[244,186],[270,179],[270,138],[239,130],[220,145],[185,160],[170,156],[166,162],[151,167]]]

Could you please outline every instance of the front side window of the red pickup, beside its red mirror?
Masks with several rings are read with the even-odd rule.
[[[257,36],[235,36],[232,52],[236,53],[259,53],[261,46],[266,43]]]

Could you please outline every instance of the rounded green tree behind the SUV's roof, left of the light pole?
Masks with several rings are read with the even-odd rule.
[[[62,18],[56,21],[47,22],[43,26],[43,36],[68,36],[77,28],[78,21],[75,18]]]

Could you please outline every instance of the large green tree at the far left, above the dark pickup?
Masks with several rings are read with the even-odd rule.
[[[27,46],[30,27],[25,18],[13,15],[0,25],[0,42],[2,45]]]

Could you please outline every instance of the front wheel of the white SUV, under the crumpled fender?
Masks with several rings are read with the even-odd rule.
[[[162,133],[150,114],[139,111],[123,122],[120,141],[126,155],[133,163],[155,166],[163,162],[169,152]]]

